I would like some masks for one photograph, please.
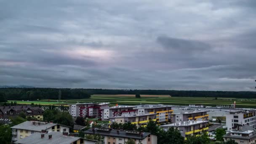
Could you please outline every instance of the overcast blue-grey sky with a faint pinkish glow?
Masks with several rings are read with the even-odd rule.
[[[0,85],[256,86],[256,0],[0,0],[0,34]]]

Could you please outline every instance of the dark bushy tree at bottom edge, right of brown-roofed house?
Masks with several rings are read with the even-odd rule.
[[[184,137],[179,130],[171,127],[168,131],[160,130],[157,144],[184,144]]]

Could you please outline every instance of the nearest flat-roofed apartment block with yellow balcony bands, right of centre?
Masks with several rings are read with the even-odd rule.
[[[179,122],[179,123],[171,123],[168,125],[161,125],[160,127],[164,129],[164,131],[168,131],[169,128],[177,128],[181,136],[184,139],[189,135],[200,135],[203,131],[208,131],[207,127],[208,121],[186,121],[186,122]]]

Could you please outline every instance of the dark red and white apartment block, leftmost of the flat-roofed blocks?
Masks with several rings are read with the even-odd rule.
[[[69,113],[72,117],[103,118],[102,112],[109,108],[109,103],[77,103],[69,105]]]

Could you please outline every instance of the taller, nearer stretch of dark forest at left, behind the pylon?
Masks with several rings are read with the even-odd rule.
[[[0,102],[6,100],[58,99],[59,91],[61,91],[61,99],[91,97],[86,89],[82,88],[0,88]]]

